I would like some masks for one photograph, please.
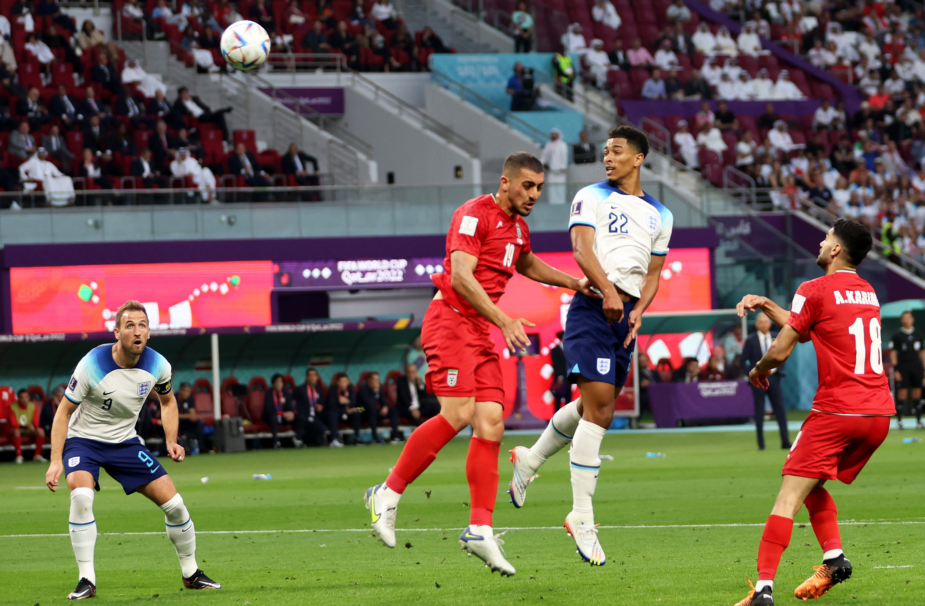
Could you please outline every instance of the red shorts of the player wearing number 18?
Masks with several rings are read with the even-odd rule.
[[[889,431],[889,416],[811,412],[796,434],[782,475],[851,484]]]

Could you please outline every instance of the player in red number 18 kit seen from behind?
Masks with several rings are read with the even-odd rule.
[[[825,276],[796,289],[790,311],[765,297],[747,294],[736,305],[739,315],[761,309],[783,326],[758,365],[749,373],[767,389],[771,368],[782,365],[796,341],[812,339],[819,365],[819,390],[812,411],[796,434],[783,464],[783,483],[764,525],[758,550],[758,583],[736,606],[772,606],[771,589],[783,550],[790,544],[794,516],[807,506],[809,522],[822,548],[822,564],[794,595],[819,598],[851,576],[842,551],[837,509],[824,488],[826,480],[851,484],[882,444],[894,413],[883,374],[880,302],[873,287],[857,276],[867,256],[870,231],[854,221],[836,219],[820,244],[816,263]]]

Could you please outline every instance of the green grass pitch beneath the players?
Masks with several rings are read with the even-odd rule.
[[[771,432],[772,433],[772,432]],[[854,577],[820,603],[925,604],[925,442],[894,431],[854,486],[830,483]],[[454,439],[405,493],[399,545],[371,536],[364,489],[382,481],[401,446],[256,451],[201,455],[162,463],[183,495],[198,535],[198,560],[225,588],[181,590],[179,565],[164,516],[139,495],[126,497],[101,475],[94,511],[97,603],[113,604],[710,604],[732,605],[755,580],[760,525],[780,485],[784,451],[759,452],[749,433],[608,435],[595,499],[607,565],[578,558],[561,528],[571,505],[567,453],[542,469],[524,509],[505,492],[507,451],[534,436],[502,443],[495,526],[517,575],[491,575],[466,557],[457,538],[468,523],[466,439]],[[773,436],[769,433],[773,442]],[[647,451],[665,458],[647,459]],[[0,465],[0,603],[62,603],[76,584],[67,532],[67,488],[41,487],[41,464]],[[253,480],[269,473],[272,480]],[[211,479],[203,484],[200,478]],[[429,492],[429,497],[425,494]],[[805,511],[777,575],[778,604],[820,563]],[[905,524],[903,524],[905,523]],[[550,527],[551,526],[551,527]],[[419,528],[436,530],[401,530]],[[439,530],[445,528],[446,530]],[[294,530],[309,532],[281,532]],[[356,530],[348,530],[356,529]],[[280,532],[203,531],[273,530]],[[11,537],[20,534],[61,535]]]

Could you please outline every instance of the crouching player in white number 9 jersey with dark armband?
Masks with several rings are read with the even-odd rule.
[[[183,586],[221,586],[196,564],[196,529],[164,467],[135,433],[135,422],[151,390],[161,401],[166,451],[179,463],[185,452],[177,443],[177,399],[170,386],[170,364],[147,347],[150,329],[144,305],[127,301],[116,313],[115,343],[87,353],[74,369],[52,425],[51,464],[45,483],[56,491],[66,473],[70,489],[70,543],[77,558],[77,588],[68,600],[96,595],[93,548],[96,520],[93,489],[99,490],[100,467],[126,494],[140,492],[165,513],[167,537],[177,548]]]

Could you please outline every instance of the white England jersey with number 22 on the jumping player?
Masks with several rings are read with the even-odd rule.
[[[643,193],[630,195],[601,181],[575,194],[569,229],[594,228],[594,254],[607,278],[621,290],[639,297],[651,255],[668,254],[674,219],[672,211]]]

